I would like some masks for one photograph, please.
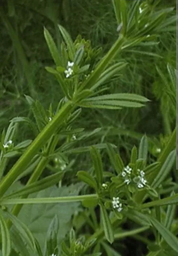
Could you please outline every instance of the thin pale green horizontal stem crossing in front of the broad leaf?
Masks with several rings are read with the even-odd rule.
[[[67,203],[67,202],[82,202],[88,199],[98,198],[97,194],[91,195],[78,195],[72,197],[43,197],[43,198],[27,198],[27,199],[2,199],[0,204],[54,204],[54,203]]]

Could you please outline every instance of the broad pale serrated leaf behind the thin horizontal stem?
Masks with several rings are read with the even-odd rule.
[[[64,197],[78,195],[81,190],[81,183],[69,185],[68,187],[52,186],[39,193],[30,196],[34,198],[42,197]],[[55,214],[58,217],[60,232],[58,232],[58,244],[65,238],[71,229],[71,217],[79,209],[80,203],[51,203],[51,204],[28,204],[24,205],[19,214],[19,219],[26,225],[39,242],[41,248],[45,246],[45,235]],[[66,214],[67,212],[67,214]],[[62,221],[61,221],[62,220]]]

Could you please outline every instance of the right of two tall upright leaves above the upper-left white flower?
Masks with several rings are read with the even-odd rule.
[[[66,31],[66,29],[64,29],[64,27],[62,27],[61,25],[58,25],[58,29],[60,30],[62,37],[64,38],[64,41],[67,45],[69,57],[70,57],[71,61],[73,61],[74,56],[75,56],[75,47],[74,47],[73,41],[71,39],[71,36]]]

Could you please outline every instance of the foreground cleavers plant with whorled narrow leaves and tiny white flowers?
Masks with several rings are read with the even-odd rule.
[[[99,256],[101,255],[100,246],[111,255],[112,248],[105,240],[112,244],[114,239],[126,235],[119,233],[117,227],[127,219],[141,225],[139,229],[128,231],[127,235],[147,229],[154,234],[155,243],[150,243],[148,246],[149,256],[158,255],[158,253],[161,255],[170,248],[173,253],[178,253],[176,238],[178,224],[172,225],[178,194],[172,192],[170,197],[164,199],[160,197],[165,179],[175,162],[176,129],[157,161],[152,164],[147,163],[146,135],[141,139],[138,149],[133,147],[127,166],[124,166],[115,145],[107,143],[88,147],[87,151],[90,151],[94,172],[90,174],[88,171],[81,170],[77,173],[77,177],[91,188],[92,194],[28,197],[32,193],[60,183],[66,174],[67,164],[70,164],[69,152],[75,149],[78,140],[82,140],[80,133],[83,129],[73,128],[73,122],[76,118],[80,118],[82,108],[119,110],[123,107],[143,107],[149,101],[146,97],[136,94],[104,93],[107,92],[106,85],[109,80],[127,65],[124,61],[114,61],[114,57],[126,48],[134,48],[141,43],[152,44],[158,36],[159,27],[164,24],[166,14],[172,9],[153,12],[148,4],[133,1],[132,8],[128,11],[125,0],[112,2],[118,22],[116,30],[118,39],[100,61],[97,61],[97,57],[101,49],[92,49],[90,42],[85,41],[81,36],[73,42],[61,25],[58,25],[58,29],[64,42],[61,43],[61,54],[59,54],[51,34],[44,29],[44,36],[56,66],[55,69],[52,67],[46,67],[46,69],[56,77],[64,95],[55,111],[52,106],[45,110],[39,101],[25,95],[35,122],[26,117],[16,117],[11,120],[7,131],[4,130],[2,133],[0,143],[0,255],[2,256]],[[15,145],[15,134],[21,122],[26,122],[32,128],[36,138],[34,141],[27,139]],[[113,172],[104,170],[99,152],[99,149],[103,148],[107,151]],[[6,173],[11,157],[19,157],[19,159]],[[60,172],[57,171],[39,180],[52,160],[59,163]],[[52,170],[54,171],[54,168]],[[8,192],[16,181],[27,174],[30,174],[30,178],[26,186],[17,191]],[[170,179],[166,180],[166,183],[170,187],[176,186]],[[148,198],[151,201],[144,203]],[[64,240],[60,245],[57,238],[60,224],[57,216],[54,216],[42,251],[30,229],[18,218],[22,205],[64,202],[82,202],[84,207],[90,209],[99,205],[100,227],[97,229],[95,221],[91,223],[94,234],[90,236],[78,236],[74,229],[71,229],[69,241]],[[9,205],[14,206],[9,208]],[[94,214],[93,212],[93,216]],[[20,234],[21,245],[20,242],[15,244],[12,239],[14,236],[18,237],[17,233]]]

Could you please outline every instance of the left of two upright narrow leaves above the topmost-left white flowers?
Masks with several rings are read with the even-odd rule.
[[[54,59],[54,63],[56,64],[56,66],[61,66],[58,48],[54,43],[54,40],[52,39],[51,34],[45,28],[44,28],[44,36],[45,36],[45,40],[47,42],[49,51],[51,52],[52,59]]]

